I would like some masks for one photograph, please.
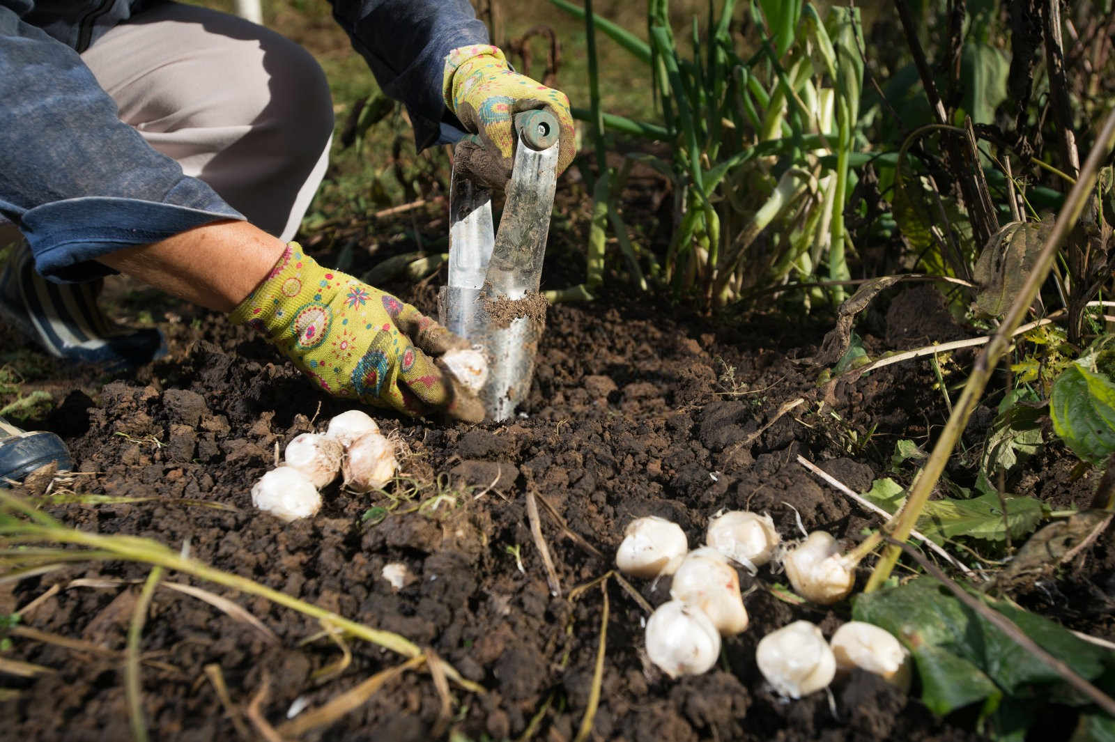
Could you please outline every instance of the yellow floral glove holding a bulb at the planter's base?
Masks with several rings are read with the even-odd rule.
[[[466,422],[484,406],[430,357],[468,348],[410,304],[330,271],[290,243],[263,283],[233,310],[336,397],[411,416],[440,410]]]

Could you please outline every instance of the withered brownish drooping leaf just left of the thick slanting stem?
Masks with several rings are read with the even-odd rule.
[[[1049,224],[1011,222],[991,237],[972,271],[979,285],[979,311],[999,316],[1010,309],[1034,270],[1049,230]]]

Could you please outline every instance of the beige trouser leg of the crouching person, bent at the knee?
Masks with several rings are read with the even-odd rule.
[[[152,147],[255,226],[294,236],[333,130],[329,86],[308,51],[235,16],[166,2],[81,59]]]

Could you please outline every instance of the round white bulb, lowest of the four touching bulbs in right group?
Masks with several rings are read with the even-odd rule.
[[[699,675],[720,656],[720,633],[702,611],[668,601],[647,619],[647,656],[670,677]]]

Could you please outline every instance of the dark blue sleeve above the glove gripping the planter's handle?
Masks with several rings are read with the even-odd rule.
[[[445,57],[458,47],[488,43],[487,28],[468,0],[330,0],[333,18],[368,61],[388,96],[401,100],[418,149],[454,141],[464,131],[445,108]]]

